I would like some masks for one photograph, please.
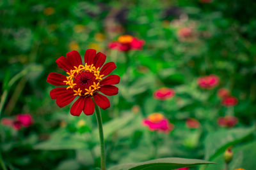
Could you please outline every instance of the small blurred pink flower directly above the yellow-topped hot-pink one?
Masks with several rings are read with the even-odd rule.
[[[173,96],[175,96],[175,90],[169,89],[166,87],[162,87],[158,90],[156,90],[153,94],[155,99],[159,100],[166,100],[166,99],[171,99]]]

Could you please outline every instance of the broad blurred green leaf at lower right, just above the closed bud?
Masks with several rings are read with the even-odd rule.
[[[239,143],[252,134],[252,131],[252,128],[236,128],[209,134],[205,138],[205,159],[214,159],[214,157],[223,152],[227,146]]]

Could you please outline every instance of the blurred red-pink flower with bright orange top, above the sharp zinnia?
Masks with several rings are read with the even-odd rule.
[[[118,41],[113,41],[108,44],[109,48],[127,52],[129,50],[141,50],[145,41],[137,39],[129,35],[119,36]]]

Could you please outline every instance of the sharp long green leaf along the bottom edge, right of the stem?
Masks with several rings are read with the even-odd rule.
[[[196,166],[201,164],[215,164],[206,160],[199,159],[184,159],[184,158],[162,158],[154,159],[141,163],[121,164],[118,166],[111,167],[109,170],[170,170],[177,169],[180,167]]]

